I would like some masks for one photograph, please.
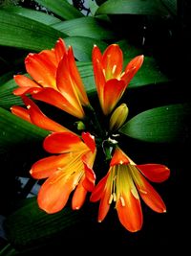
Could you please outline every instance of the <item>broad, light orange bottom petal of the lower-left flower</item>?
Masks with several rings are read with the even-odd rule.
[[[66,205],[73,190],[73,179],[57,171],[42,184],[37,197],[38,205],[47,213],[56,213]]]

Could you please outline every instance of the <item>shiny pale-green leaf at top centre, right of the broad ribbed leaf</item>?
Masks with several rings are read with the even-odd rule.
[[[100,40],[114,38],[110,24],[94,17],[80,17],[53,25],[53,28],[69,36],[87,36]]]

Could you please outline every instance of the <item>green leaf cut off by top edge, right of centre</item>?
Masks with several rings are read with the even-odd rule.
[[[96,11],[96,14],[139,14],[168,15],[167,9],[159,0],[108,0]]]

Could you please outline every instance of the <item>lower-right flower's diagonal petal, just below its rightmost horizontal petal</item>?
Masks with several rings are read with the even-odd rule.
[[[138,192],[140,197],[144,200],[144,202],[154,211],[158,213],[166,212],[166,206],[160,198],[158,192],[149,184],[149,182],[141,175],[138,174],[141,181],[136,182],[136,186],[138,188]]]

